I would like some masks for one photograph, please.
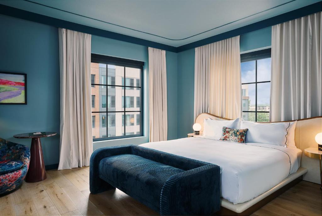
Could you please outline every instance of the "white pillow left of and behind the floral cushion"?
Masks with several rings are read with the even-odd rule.
[[[235,120],[213,120],[204,119],[204,136],[221,137],[223,127],[237,129],[239,119]]]

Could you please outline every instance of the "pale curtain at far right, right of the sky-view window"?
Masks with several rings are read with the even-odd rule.
[[[270,121],[322,115],[321,12],[272,26]]]

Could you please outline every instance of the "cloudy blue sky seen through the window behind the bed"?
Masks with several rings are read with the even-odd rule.
[[[251,83],[256,80],[255,61],[242,62],[242,83]],[[270,58],[257,60],[257,82],[270,81]],[[255,84],[248,85],[248,96],[251,105],[255,106]],[[257,105],[270,104],[270,83],[257,84]]]

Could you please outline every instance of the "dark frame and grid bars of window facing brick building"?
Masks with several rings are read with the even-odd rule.
[[[93,141],[101,141],[101,140],[114,140],[114,139],[123,139],[123,138],[131,138],[131,137],[141,137],[143,136],[143,101],[144,101],[144,94],[143,94],[143,66],[144,66],[144,62],[142,61],[136,61],[136,60],[130,60],[130,59],[125,59],[125,58],[117,58],[117,57],[112,57],[112,56],[104,56],[104,55],[99,55],[99,54],[91,54],[91,62],[92,63],[101,63],[101,64],[106,64],[106,65],[115,65],[115,66],[121,66],[124,67],[124,85],[109,85],[108,84],[108,80],[106,77],[106,85],[104,84],[91,84],[91,85],[103,85],[106,86],[106,88],[108,88],[108,86],[111,87],[123,87],[122,90],[124,90],[124,106],[126,104],[126,90],[127,87],[133,88],[133,89],[141,89],[140,92],[140,108],[138,111],[126,111],[126,107],[124,107],[123,111],[108,111],[108,109],[106,111],[95,111],[95,112],[91,112],[91,113],[106,113],[106,116],[108,116],[108,113],[122,113],[124,116],[126,116],[126,113],[140,113],[140,133],[139,134],[133,134],[133,135],[125,135],[126,134],[126,117],[124,117],[124,135],[123,136],[114,136],[114,137],[101,137],[101,138],[94,138]],[[141,86],[137,87],[137,86],[127,86],[125,78],[126,78],[126,74],[125,74],[125,68],[126,67],[133,67],[133,68],[138,68],[140,69],[140,84]],[[134,81],[133,81],[133,85],[134,85]],[[107,100],[107,98],[106,98]],[[106,101],[107,102],[107,101]],[[134,103],[134,100],[133,100]],[[107,105],[107,104],[106,104]],[[134,107],[135,108],[135,107]],[[122,126],[123,127],[123,126]],[[106,134],[108,133],[108,122],[106,122]]]

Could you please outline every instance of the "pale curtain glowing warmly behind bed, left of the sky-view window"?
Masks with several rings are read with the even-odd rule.
[[[195,48],[194,59],[194,118],[204,112],[240,118],[239,36]]]

